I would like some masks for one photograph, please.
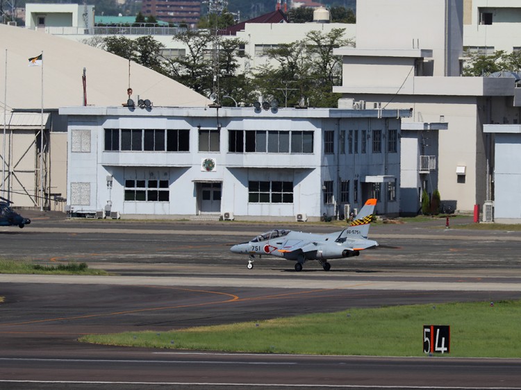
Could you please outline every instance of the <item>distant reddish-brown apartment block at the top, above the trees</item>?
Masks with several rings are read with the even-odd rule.
[[[169,23],[186,23],[195,26],[201,17],[201,1],[143,0],[142,14],[155,16]]]

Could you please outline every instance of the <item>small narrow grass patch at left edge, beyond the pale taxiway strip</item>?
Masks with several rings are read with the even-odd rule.
[[[85,262],[41,265],[26,261],[0,260],[0,273],[31,273],[38,275],[107,275],[102,269],[90,269]]]

